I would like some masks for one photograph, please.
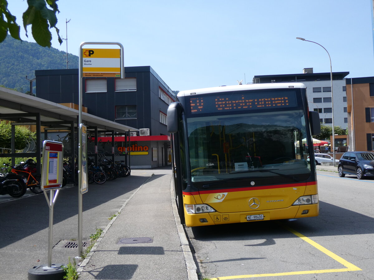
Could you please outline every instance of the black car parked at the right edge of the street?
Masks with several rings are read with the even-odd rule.
[[[339,177],[346,174],[356,175],[357,179],[364,176],[374,176],[373,152],[346,152],[341,156],[338,164]]]

